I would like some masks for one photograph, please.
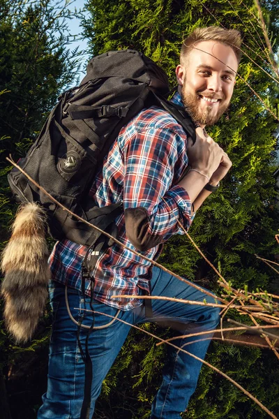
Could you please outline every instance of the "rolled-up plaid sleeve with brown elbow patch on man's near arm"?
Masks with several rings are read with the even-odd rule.
[[[166,127],[135,133],[125,148],[126,235],[141,251],[183,234],[193,221],[188,193],[176,185],[187,167],[186,134]]]

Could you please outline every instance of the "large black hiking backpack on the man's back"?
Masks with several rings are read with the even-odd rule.
[[[89,190],[121,128],[143,108],[165,108],[195,140],[195,126],[183,108],[167,101],[165,72],[141,52],[111,51],[89,61],[79,87],[59,97],[42,131],[18,165],[59,203],[102,230],[117,235],[121,204],[96,207]],[[8,182],[19,202],[40,203],[54,239],[67,237],[90,247],[100,233],[63,211],[17,168]]]

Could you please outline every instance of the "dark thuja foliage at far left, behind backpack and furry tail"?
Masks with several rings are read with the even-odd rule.
[[[48,112],[63,89],[72,84],[79,71],[80,52],[70,52],[73,39],[68,31],[71,14],[50,0],[0,0],[0,247],[8,240],[10,220],[17,205],[10,200],[6,174],[10,165],[6,156],[17,161],[30,147],[42,128]],[[46,317],[45,324],[50,325]],[[0,323],[0,405],[1,418],[10,419],[7,397],[13,417],[33,418],[36,403],[45,388],[34,381],[33,372],[47,362],[47,335],[24,348],[18,348],[6,335]],[[24,352],[28,351],[28,356]],[[13,365],[16,365],[15,367]],[[24,369],[25,365],[25,369]],[[41,374],[46,377],[46,371]],[[8,381],[6,397],[5,379]],[[38,381],[42,381],[42,377]],[[28,383],[32,383],[32,390]],[[24,388],[20,387],[24,383]],[[45,380],[43,381],[45,383]],[[38,390],[39,389],[39,390]],[[13,399],[13,392],[20,396]],[[36,397],[35,397],[36,398]],[[15,402],[17,400],[17,402]],[[3,406],[3,407],[2,407]],[[17,413],[16,413],[17,412]]]

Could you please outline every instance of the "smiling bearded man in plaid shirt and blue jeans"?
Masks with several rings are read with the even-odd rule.
[[[93,183],[91,194],[99,206],[123,202],[124,214],[116,224],[118,238],[126,248],[112,245],[99,256],[93,271],[96,314],[89,339],[93,363],[91,414],[103,379],[130,330],[127,323],[172,322],[179,335],[188,328],[193,332],[213,330],[218,325],[219,309],[213,307],[153,300],[153,314],[149,314],[142,300],[121,295],[144,295],[151,290],[152,295],[215,302],[214,297],[152,267],[131,249],[156,260],[165,240],[183,234],[179,221],[190,227],[194,211],[217,189],[232,166],[204,127],[216,123],[229,105],[240,46],[238,31],[209,27],[190,34],[181,49],[176,68],[179,89],[172,100],[181,105],[183,102],[197,123],[195,144],[165,110],[143,110],[121,130]],[[50,257],[54,325],[47,393],[38,419],[80,418],[84,364],[77,346],[77,325],[83,312],[75,308],[90,309],[89,281],[85,301],[81,292],[85,253],[83,246],[63,240],[56,243]],[[80,331],[83,345],[91,323],[92,315],[86,313]],[[189,344],[193,340],[196,338],[177,339],[176,345],[182,347],[187,342],[187,350],[203,359],[209,341]],[[180,418],[195,390],[200,367],[198,360],[169,347],[163,382],[152,404],[152,419]]]

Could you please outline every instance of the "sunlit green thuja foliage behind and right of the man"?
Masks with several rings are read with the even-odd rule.
[[[276,52],[279,6],[275,1],[266,1],[262,7]],[[165,69],[173,84],[183,36],[195,27],[212,24],[239,29],[247,45],[243,45],[246,54],[274,75],[266,63],[264,36],[250,0],[245,4],[234,0],[89,0],[86,8],[90,15],[84,20],[84,35],[94,55],[126,47],[141,50]],[[218,193],[213,193],[197,212],[190,235],[235,288],[278,293],[276,274],[255,258],[257,253],[272,259],[278,252],[274,240],[278,210],[273,178],[278,84],[262,68],[243,55],[241,78],[236,80],[229,110],[208,130],[229,154],[233,167]],[[276,119],[246,82],[269,105]],[[186,237],[173,237],[160,261],[174,272],[222,293],[216,274]],[[236,313],[230,316],[243,319]],[[278,361],[271,351],[215,343],[207,359],[250,390],[273,413],[279,413]],[[104,399],[98,402],[96,417],[110,418],[116,412],[116,417],[148,418],[150,402],[160,385],[162,363],[162,349],[159,351],[149,338],[133,332],[105,381]],[[109,400],[107,404],[105,399]],[[183,418],[258,419],[266,418],[266,413],[231,383],[203,367],[197,391]]]

